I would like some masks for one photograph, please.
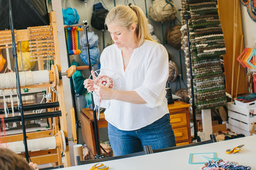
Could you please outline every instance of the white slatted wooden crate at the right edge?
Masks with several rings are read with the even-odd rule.
[[[243,107],[241,105],[235,105],[234,102],[229,102],[227,108],[228,124],[250,132],[252,123],[256,122],[256,105],[254,107]],[[254,130],[256,130],[256,126],[254,126]]]

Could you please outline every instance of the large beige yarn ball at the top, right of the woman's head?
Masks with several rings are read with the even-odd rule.
[[[168,22],[175,19],[177,8],[171,0],[154,0],[149,7],[149,16],[157,22]]]

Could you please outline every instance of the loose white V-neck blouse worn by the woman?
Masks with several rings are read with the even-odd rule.
[[[101,101],[100,107],[106,108],[105,118],[110,124],[120,130],[137,130],[169,113],[165,98],[169,64],[167,50],[163,45],[145,40],[133,50],[124,70],[121,49],[113,44],[103,50],[100,64],[102,71],[111,70],[119,75],[120,90],[135,90],[147,102],[132,104],[114,99]],[[98,99],[94,100],[97,104]]]

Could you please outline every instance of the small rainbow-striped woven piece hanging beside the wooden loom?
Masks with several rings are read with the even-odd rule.
[[[65,27],[69,55],[81,54],[81,50],[79,49],[79,31],[83,31],[82,26]]]

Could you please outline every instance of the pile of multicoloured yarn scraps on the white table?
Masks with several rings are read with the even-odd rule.
[[[213,162],[212,160],[209,160],[208,163],[205,164],[204,167],[201,168],[201,170],[250,170],[250,166],[243,166],[238,165],[234,162],[229,162],[227,160],[217,160]]]

